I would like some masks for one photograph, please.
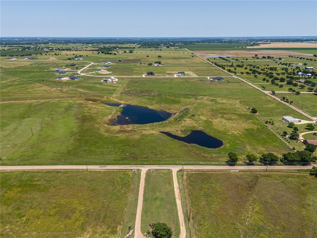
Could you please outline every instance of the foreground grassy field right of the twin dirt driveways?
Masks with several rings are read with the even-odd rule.
[[[313,176],[185,172],[185,178],[197,238],[317,236]]]

